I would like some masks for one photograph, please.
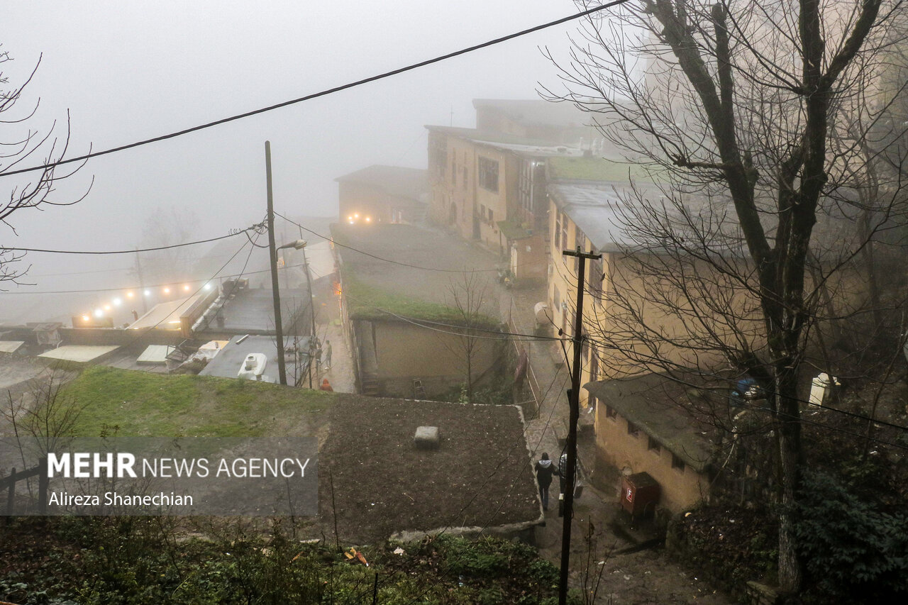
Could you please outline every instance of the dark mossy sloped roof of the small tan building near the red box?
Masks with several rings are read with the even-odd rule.
[[[663,374],[588,382],[587,392],[613,408],[697,472],[706,470],[716,449],[714,430],[683,406],[686,386]]]

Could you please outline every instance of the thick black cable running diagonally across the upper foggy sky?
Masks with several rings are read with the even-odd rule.
[[[298,103],[302,103],[304,101],[311,101],[312,99],[317,99],[322,96],[328,96],[329,94],[340,93],[341,91],[349,90],[350,88],[355,88],[357,86],[361,86],[362,84],[370,84],[371,82],[377,82],[379,80],[389,78],[392,75],[403,74],[405,72],[409,72],[414,69],[418,69],[419,67],[425,67],[426,65],[436,64],[441,61],[446,61],[448,59],[454,58],[459,55],[467,55],[468,53],[472,53],[473,51],[477,51],[482,48],[487,48],[489,46],[498,45],[503,42],[508,42],[508,40],[513,40],[514,38],[518,38],[518,37],[521,37],[524,35],[533,34],[535,32],[541,31],[543,29],[548,29],[548,27],[565,24],[570,21],[574,21],[575,19],[579,19],[580,17],[584,17],[587,15],[593,15],[594,13],[597,13],[597,12],[604,10],[606,8],[609,8],[611,6],[622,5],[622,4],[626,3],[627,1],[628,0],[615,0],[615,2],[610,2],[606,5],[599,5],[594,8],[587,9],[586,11],[583,11],[581,13],[577,13],[575,15],[569,15],[567,17],[562,17],[560,19],[556,19],[555,21],[549,21],[548,23],[545,23],[542,25],[535,25],[528,29],[521,30],[515,34],[503,35],[503,36],[495,38],[493,40],[489,40],[488,42],[483,42],[479,45],[468,46],[467,48],[462,48],[458,51],[454,51],[453,53],[448,53],[447,55],[439,55],[434,58],[427,59],[425,61],[420,61],[419,63],[414,63],[414,64],[407,65],[405,67],[399,67],[397,69],[393,69],[390,72],[385,72],[383,74],[378,74],[378,75],[372,75],[368,78],[356,80],[355,82],[341,84],[340,86],[334,86],[333,88],[328,88],[328,89],[322,90],[321,92],[318,92],[318,93],[307,94],[305,96],[301,96],[296,99],[291,99],[290,101],[284,101],[282,103],[269,105],[267,107],[262,107],[260,109],[254,109],[250,112],[245,112],[243,114],[236,114],[236,115],[232,115],[230,117],[221,118],[220,120],[215,120],[213,122],[208,122],[206,124],[199,124],[199,125],[192,126],[190,128],[186,128],[186,129],[176,131],[176,132],[173,132],[170,134],[162,134],[162,135],[150,138],[150,139],[145,139],[143,141],[136,141],[134,143],[124,144],[124,145],[120,145],[118,147],[111,147],[110,149],[104,149],[104,150],[98,151],[98,152],[92,152],[89,154],[79,155],[77,157],[72,157],[67,160],[60,160],[60,161],[54,162],[52,164],[41,164],[38,166],[33,166],[31,168],[20,168],[19,170],[12,170],[12,171],[0,174],[0,176],[11,176],[13,174],[24,174],[24,173],[35,172],[36,170],[52,169],[52,168],[55,168],[56,166],[60,166],[63,164],[72,164],[74,162],[84,162],[85,160],[88,160],[93,157],[98,157],[98,156],[107,155],[107,154],[115,154],[117,152],[125,151],[127,149],[133,149],[133,147],[140,147],[140,146],[146,145],[146,144],[158,143],[159,141],[165,141],[167,139],[173,139],[178,136],[183,136],[183,134],[190,134],[190,133],[194,133],[194,132],[197,132],[200,130],[205,130],[207,128],[212,128],[213,126],[219,126],[221,124],[227,124],[230,122],[235,122],[237,120],[242,120],[243,118],[252,117],[252,115],[264,114],[266,112],[270,112],[275,109],[280,109],[281,107],[286,107],[288,105],[298,104]]]

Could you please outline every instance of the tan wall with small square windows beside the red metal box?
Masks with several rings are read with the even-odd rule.
[[[672,468],[672,453],[665,447],[658,452],[649,450],[646,433],[641,430],[638,434],[635,437],[627,433],[627,419],[620,414],[607,418],[606,406],[597,406],[597,464],[604,462],[627,474],[648,472],[662,487],[660,506],[672,512],[706,500],[709,480],[705,474],[687,465],[684,470]]]

